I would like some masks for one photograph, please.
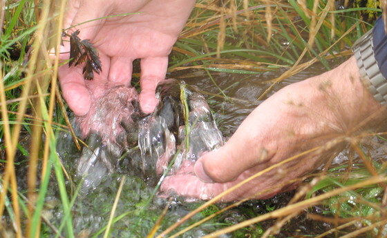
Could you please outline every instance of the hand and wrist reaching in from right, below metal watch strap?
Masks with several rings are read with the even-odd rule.
[[[277,165],[222,201],[271,197],[293,189],[292,179],[321,166],[334,148],[356,133],[362,121],[369,117],[370,121],[380,121],[385,115],[361,83],[352,57],[330,72],[276,92],[243,121],[225,146],[166,177],[161,191],[210,199]],[[279,164],[314,148],[314,152]]]

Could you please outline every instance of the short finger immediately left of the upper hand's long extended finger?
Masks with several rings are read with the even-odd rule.
[[[110,62],[108,80],[128,86],[132,78],[132,60],[128,57],[113,57]]]

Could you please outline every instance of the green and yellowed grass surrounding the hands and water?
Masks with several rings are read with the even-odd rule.
[[[48,49],[61,43],[65,1],[1,3],[0,237],[386,237],[383,125],[337,135],[328,143],[346,141],[338,156],[346,159],[273,199],[164,201],[141,179],[118,173],[104,190],[82,196],[56,152],[57,135],[70,124],[57,84],[59,57],[50,59]],[[211,96],[234,103],[218,75],[281,72],[256,78],[267,85],[248,102],[256,103],[314,63],[328,70],[346,59],[381,14],[378,6],[372,0],[200,0],[173,47],[169,73],[200,71],[218,88]],[[303,229],[301,220],[324,229]]]

